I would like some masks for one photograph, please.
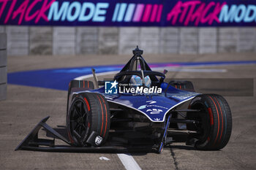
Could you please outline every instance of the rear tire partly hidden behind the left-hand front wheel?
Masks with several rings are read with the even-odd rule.
[[[75,91],[81,91],[81,90],[92,90],[94,89],[94,83],[87,80],[71,80],[69,82],[69,88],[67,90],[67,112],[69,111],[69,106],[71,103],[69,101],[72,101],[72,96],[70,96],[71,93]]]

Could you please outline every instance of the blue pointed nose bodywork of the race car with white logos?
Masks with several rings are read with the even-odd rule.
[[[108,102],[120,104],[124,107],[135,109],[143,115],[146,115],[146,117],[148,117],[148,119],[152,122],[164,122],[167,112],[169,112],[171,109],[175,108],[179,104],[182,104],[185,101],[189,101],[200,94],[185,90],[179,90],[177,88],[173,88],[173,86],[169,86],[167,88],[167,85],[168,84],[166,82],[162,83],[161,88],[163,93],[161,94],[134,95],[132,93],[122,93],[113,95],[106,94],[105,87],[96,90],[88,90],[86,92],[101,93],[105,96]]]

